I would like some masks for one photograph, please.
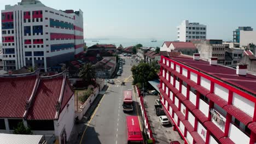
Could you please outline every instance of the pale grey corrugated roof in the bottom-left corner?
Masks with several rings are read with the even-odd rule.
[[[42,140],[42,135],[15,135],[15,134],[0,134],[0,143],[4,144],[38,144]]]

